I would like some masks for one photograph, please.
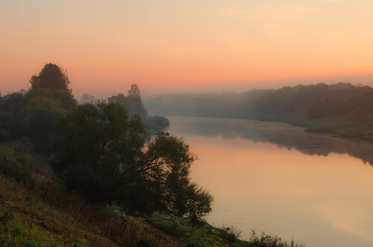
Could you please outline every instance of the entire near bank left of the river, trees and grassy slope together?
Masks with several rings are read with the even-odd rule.
[[[233,226],[208,225],[213,197],[189,178],[197,156],[182,138],[147,141],[144,122],[168,121],[148,116],[136,84],[128,96],[81,105],[57,65],[30,84],[0,97],[1,245],[298,246],[254,231],[241,241]],[[184,225],[172,232],[182,241],[160,238],[113,207],[159,228]]]

